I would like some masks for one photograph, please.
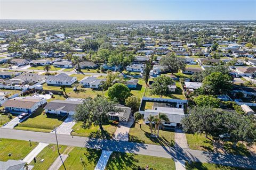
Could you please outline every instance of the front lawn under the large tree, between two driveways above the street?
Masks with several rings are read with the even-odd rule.
[[[92,126],[90,129],[84,129],[81,125],[82,123],[79,122],[73,126],[73,135],[81,137],[111,139],[117,128],[116,126],[110,124],[103,125],[103,130],[105,131],[102,133],[99,129],[99,126]]]

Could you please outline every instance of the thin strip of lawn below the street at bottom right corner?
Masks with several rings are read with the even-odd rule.
[[[192,162],[192,163],[186,163],[186,169],[187,170],[242,170],[244,168],[237,168],[237,167],[231,167],[231,166],[223,166],[223,165],[217,165],[217,164],[211,164],[211,163],[198,163],[198,162]]]

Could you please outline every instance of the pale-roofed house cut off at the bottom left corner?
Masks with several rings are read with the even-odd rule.
[[[6,162],[0,161],[1,170],[24,170],[27,163],[20,160],[7,160]]]

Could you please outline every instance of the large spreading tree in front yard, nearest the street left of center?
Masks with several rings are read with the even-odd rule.
[[[87,97],[84,99],[83,104],[76,107],[74,120],[83,122],[83,128],[90,128],[92,125],[100,126],[109,120],[109,114],[118,112],[119,110],[114,106],[114,101],[97,96],[95,98]]]

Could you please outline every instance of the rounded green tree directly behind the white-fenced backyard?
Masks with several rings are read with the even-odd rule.
[[[151,87],[151,94],[158,95],[160,97],[167,96],[169,94],[168,86],[173,84],[173,80],[170,77],[161,75],[154,79]]]

